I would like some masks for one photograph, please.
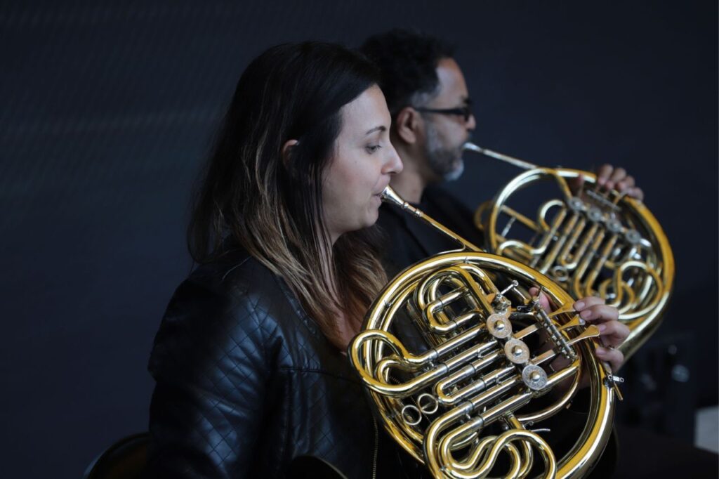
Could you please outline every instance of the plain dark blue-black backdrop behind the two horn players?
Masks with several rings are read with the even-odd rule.
[[[480,145],[638,178],[677,262],[648,350],[659,359],[643,359],[660,369],[654,407],[691,418],[717,402],[715,1],[5,2],[4,477],[77,478],[147,428],[152,338],[191,268],[188,193],[248,61],[279,42],[358,45],[391,27],[459,45]],[[468,206],[518,173],[467,160],[452,189]],[[689,375],[668,403],[656,361],[677,345]],[[693,425],[658,428],[690,439]]]

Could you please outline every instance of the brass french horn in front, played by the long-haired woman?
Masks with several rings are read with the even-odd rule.
[[[435,478],[589,473],[608,442],[620,381],[595,357],[597,327],[546,275],[482,252],[389,187],[383,199],[462,246],[391,280],[349,345],[390,436]],[[559,455],[541,426],[571,405],[582,378],[587,421]]]

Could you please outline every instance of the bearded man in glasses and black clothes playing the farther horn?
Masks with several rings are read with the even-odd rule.
[[[462,175],[462,145],[476,125],[454,49],[429,35],[393,30],[370,37],[360,50],[382,72],[381,87],[393,117],[390,140],[404,164],[392,187],[444,226],[482,246],[472,211],[437,188]],[[603,188],[643,197],[623,168],[603,165],[597,176]],[[379,224],[392,240],[387,255],[390,273],[457,247],[431,227],[386,206],[380,210]]]

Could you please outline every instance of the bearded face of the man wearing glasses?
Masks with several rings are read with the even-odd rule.
[[[462,70],[452,58],[443,58],[437,64],[439,94],[424,107],[428,109],[454,109],[469,106],[470,94]],[[456,180],[462,175],[462,145],[475,129],[475,117],[465,120],[459,114],[423,113],[425,125],[425,154],[429,169],[439,180]]]

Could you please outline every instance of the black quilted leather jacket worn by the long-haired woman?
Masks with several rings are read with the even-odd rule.
[[[349,478],[417,474],[373,419],[347,357],[242,250],[175,291],[149,369],[148,477],[285,477],[307,455]]]

